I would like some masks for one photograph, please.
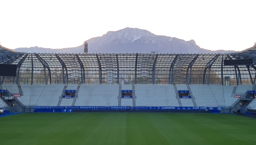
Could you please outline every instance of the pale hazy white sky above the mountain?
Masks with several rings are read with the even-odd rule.
[[[0,0],[0,42],[59,49],[131,27],[239,51],[256,41],[255,7],[256,0]]]

